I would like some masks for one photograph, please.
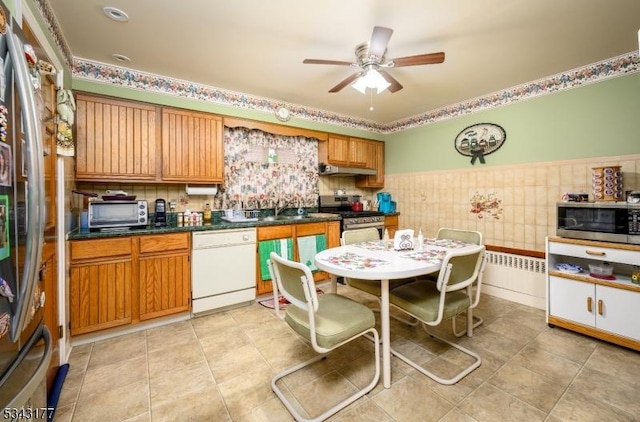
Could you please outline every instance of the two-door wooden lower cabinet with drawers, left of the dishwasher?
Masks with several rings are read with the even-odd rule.
[[[71,242],[71,335],[190,309],[189,233]]]

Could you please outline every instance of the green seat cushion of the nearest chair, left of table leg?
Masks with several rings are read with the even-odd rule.
[[[375,326],[373,311],[361,303],[333,293],[318,296],[316,320],[316,342],[320,347],[331,349],[337,344]],[[309,314],[307,311],[289,306],[285,321],[300,336],[311,341]]]

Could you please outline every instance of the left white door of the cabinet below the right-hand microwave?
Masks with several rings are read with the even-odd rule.
[[[562,277],[549,277],[549,314],[593,327],[596,318],[595,286]]]

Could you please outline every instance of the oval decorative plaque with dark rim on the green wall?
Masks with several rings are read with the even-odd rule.
[[[506,139],[502,126],[478,123],[464,128],[456,136],[454,146],[460,154],[471,157],[471,164],[475,164],[476,159],[484,164],[484,156],[497,151]]]

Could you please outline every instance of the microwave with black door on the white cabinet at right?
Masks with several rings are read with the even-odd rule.
[[[558,203],[556,235],[640,245],[640,204]]]

